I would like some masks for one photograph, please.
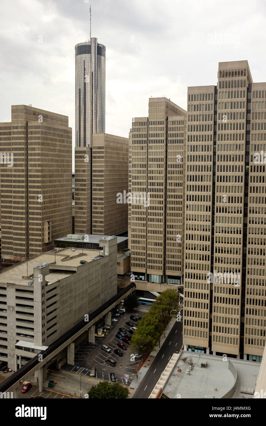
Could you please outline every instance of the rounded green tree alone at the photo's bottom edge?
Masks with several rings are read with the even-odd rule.
[[[99,382],[88,391],[89,399],[126,399],[129,389],[120,383]]]

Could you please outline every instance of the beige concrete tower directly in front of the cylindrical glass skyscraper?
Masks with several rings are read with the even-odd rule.
[[[118,203],[117,193],[128,192],[128,164],[127,138],[95,133],[92,148],[75,148],[75,233],[117,235],[127,230],[128,204]]]

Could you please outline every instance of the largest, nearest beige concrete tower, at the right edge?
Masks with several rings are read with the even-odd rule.
[[[188,88],[185,348],[261,360],[266,332],[266,83],[247,61]],[[255,164],[254,164],[255,161]],[[257,162],[260,161],[260,162]]]

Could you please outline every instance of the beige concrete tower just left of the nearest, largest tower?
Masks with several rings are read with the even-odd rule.
[[[169,99],[150,98],[149,117],[132,121],[129,247],[136,280],[181,284],[183,279],[186,118]]]

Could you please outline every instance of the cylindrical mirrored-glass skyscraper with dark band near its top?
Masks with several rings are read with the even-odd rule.
[[[76,147],[91,147],[92,134],[105,132],[105,46],[96,38],[76,51]]]

